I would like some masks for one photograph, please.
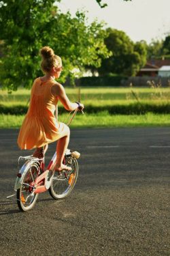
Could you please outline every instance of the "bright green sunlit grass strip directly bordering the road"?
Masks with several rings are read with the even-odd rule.
[[[0,115],[0,128],[20,128],[24,115]],[[59,116],[60,122],[67,123],[68,114]],[[78,113],[71,123],[71,128],[112,128],[112,127],[143,127],[170,126],[170,114],[155,115],[109,115],[107,111],[97,114]]]

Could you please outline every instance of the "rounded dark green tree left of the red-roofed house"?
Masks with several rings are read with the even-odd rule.
[[[109,34],[105,38],[105,44],[112,56],[103,59],[99,74],[122,74],[133,76],[146,63],[146,44],[137,42],[134,44],[128,35],[117,29],[107,29]]]

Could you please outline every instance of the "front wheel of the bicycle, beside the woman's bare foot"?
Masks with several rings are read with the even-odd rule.
[[[78,161],[69,156],[65,158],[65,165],[70,166],[71,171],[62,171],[59,175],[58,171],[55,171],[52,177],[52,184],[48,191],[54,199],[67,197],[78,179]]]

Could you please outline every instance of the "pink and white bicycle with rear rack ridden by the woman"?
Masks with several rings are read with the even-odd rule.
[[[69,124],[77,111],[78,109],[74,111]],[[46,170],[44,168],[44,156],[41,159],[33,156],[20,156],[18,162],[20,160],[26,162],[17,174],[14,187],[19,209],[24,212],[31,210],[37,201],[39,193],[44,193],[47,190],[54,199],[67,197],[78,179],[77,159],[79,157],[80,153],[71,152],[71,150],[67,149],[63,164],[71,167],[71,171],[58,172],[54,171],[56,152]]]

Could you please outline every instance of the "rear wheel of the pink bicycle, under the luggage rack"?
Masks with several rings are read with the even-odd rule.
[[[38,194],[34,193],[35,179],[40,173],[39,162],[33,162],[24,171],[20,188],[16,191],[18,208],[23,212],[31,210],[37,201]]]

